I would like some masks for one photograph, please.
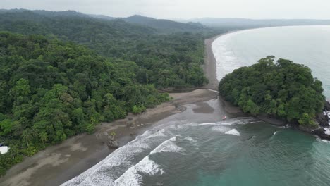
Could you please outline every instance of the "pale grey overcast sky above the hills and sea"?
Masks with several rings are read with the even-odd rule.
[[[154,18],[330,19],[330,0],[0,0],[0,8]]]

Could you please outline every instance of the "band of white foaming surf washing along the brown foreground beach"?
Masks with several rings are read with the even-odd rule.
[[[154,161],[154,156],[164,153],[185,156],[186,149],[178,143],[189,143],[194,147],[197,140],[193,137],[182,136],[183,132],[189,130],[200,131],[205,128],[209,131],[221,129],[221,133],[230,132],[238,135],[239,132],[232,130],[231,125],[237,126],[252,122],[252,118],[236,118],[219,123],[186,123],[176,121],[165,123],[157,128],[147,130],[135,140],[128,142],[125,146],[117,149],[97,165],[84,173],[64,183],[63,186],[74,185],[142,185],[145,175],[166,174],[163,168]],[[212,128],[208,128],[210,125]],[[140,158],[142,156],[142,158]]]

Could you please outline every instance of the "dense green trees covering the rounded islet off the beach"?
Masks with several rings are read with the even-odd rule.
[[[310,68],[281,58],[274,63],[274,56],[226,75],[219,92],[244,112],[267,113],[307,127],[316,125],[314,116],[324,107],[322,82]]]

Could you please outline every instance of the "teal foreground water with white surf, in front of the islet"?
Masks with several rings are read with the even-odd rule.
[[[326,185],[330,144],[256,118],[221,120],[218,99],[186,107],[63,185]]]

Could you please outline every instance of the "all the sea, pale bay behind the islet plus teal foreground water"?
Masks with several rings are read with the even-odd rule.
[[[318,60],[319,54],[329,54],[322,48],[325,38],[330,38],[330,32],[324,36],[326,30],[330,27],[274,27],[219,37],[213,45],[218,78],[271,54],[304,63],[320,80],[327,80],[326,73],[322,73],[327,59]],[[302,44],[312,50],[300,54],[298,51],[307,48]],[[288,50],[298,56],[289,55]],[[325,81],[324,89],[327,86]],[[329,97],[329,89],[326,95]],[[212,99],[206,104],[214,111],[202,113],[197,105],[187,105],[183,113],[160,120],[63,185],[329,185],[329,142],[256,118],[228,117],[222,121],[226,113],[221,102]]]

